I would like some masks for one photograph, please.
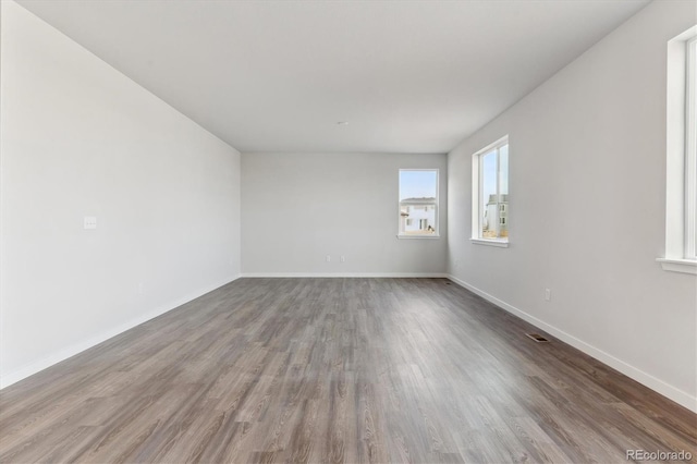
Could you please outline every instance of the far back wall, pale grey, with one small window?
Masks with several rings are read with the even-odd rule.
[[[442,274],[444,232],[396,237],[400,168],[439,169],[445,209],[445,155],[243,154],[243,274]]]

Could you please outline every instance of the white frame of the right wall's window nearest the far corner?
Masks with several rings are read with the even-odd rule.
[[[511,146],[509,144],[509,135],[504,135],[492,144],[487,145],[481,148],[477,152],[472,156],[472,235],[469,237],[469,242],[475,245],[489,245],[497,246],[501,248],[509,247],[509,237],[496,237],[488,239],[482,235],[482,222],[484,222],[484,211],[481,210],[481,196],[482,196],[482,162],[481,159],[485,155],[490,154],[493,150],[499,150],[503,146],[509,146],[509,172],[508,172],[508,181],[511,179]],[[497,195],[499,195],[499,182],[500,182],[500,163],[499,163],[499,154],[497,152]],[[510,185],[509,185],[510,191]],[[509,227],[509,208],[505,208],[506,213],[506,228]],[[499,228],[499,221],[493,221],[496,223],[497,230]]]

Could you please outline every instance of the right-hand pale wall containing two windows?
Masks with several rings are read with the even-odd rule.
[[[692,1],[649,4],[449,155],[452,276],[693,410],[697,282],[656,258],[667,41],[695,20]],[[511,247],[473,245],[472,154],[505,134]]]

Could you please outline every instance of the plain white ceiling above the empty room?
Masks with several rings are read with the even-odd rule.
[[[241,151],[447,152],[648,1],[19,3]]]

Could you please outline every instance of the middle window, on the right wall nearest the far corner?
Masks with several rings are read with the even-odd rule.
[[[472,242],[508,246],[509,136],[473,156]]]

